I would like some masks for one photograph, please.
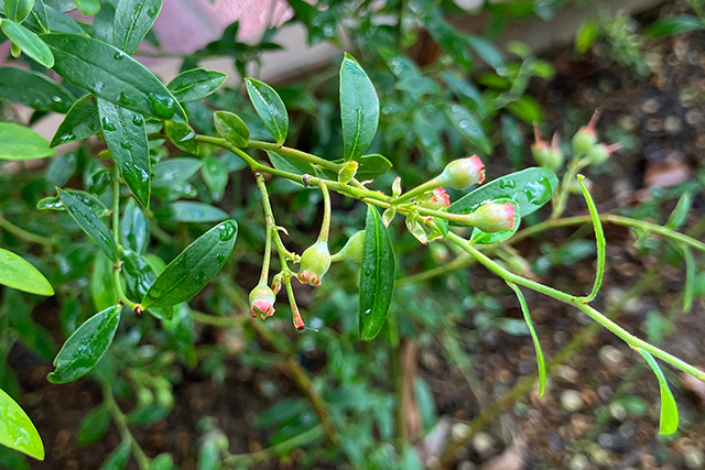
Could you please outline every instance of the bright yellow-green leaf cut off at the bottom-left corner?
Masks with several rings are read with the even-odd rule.
[[[44,460],[44,444],[24,409],[0,389],[0,444]]]

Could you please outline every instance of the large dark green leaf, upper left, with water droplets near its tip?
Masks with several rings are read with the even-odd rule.
[[[54,70],[68,81],[140,114],[187,121],[159,78],[122,51],[78,34],[42,34],[42,39],[54,52]]]

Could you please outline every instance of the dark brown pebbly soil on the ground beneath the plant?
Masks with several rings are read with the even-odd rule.
[[[646,24],[673,8],[680,7],[650,11],[637,20]],[[702,165],[699,155],[705,152],[705,100],[702,99],[705,94],[705,33],[649,40],[646,57],[653,73],[643,77],[615,64],[607,51],[605,54],[576,59],[571,50],[552,51],[545,58],[556,64],[556,78],[532,86],[532,92],[544,103],[546,128],[574,131],[599,107],[603,110],[598,125],[600,135],[636,138],[627,151],[612,155],[603,171],[588,174],[594,181],[594,195],[600,210],[636,204],[648,198],[655,186],[671,186],[680,175],[687,176]],[[584,212],[579,198],[574,198],[568,212]],[[705,200],[699,195],[686,227],[704,216]],[[573,232],[572,229],[555,230],[542,242],[555,240],[557,243]],[[608,270],[605,288],[597,300],[600,308],[618,300],[639,275],[657,263],[654,255],[634,251],[633,238],[626,229],[606,226],[606,236]],[[540,254],[539,245],[527,241],[517,248],[533,260]],[[589,285],[593,276],[588,262],[570,270],[555,269],[543,275],[544,281],[551,280],[567,291],[576,285]],[[696,302],[687,314],[681,313],[677,305],[674,307],[674,303],[680,302],[676,293],[682,289],[683,282],[682,269],[664,266],[660,281],[619,311],[618,323],[644,337],[648,311],[674,310],[674,330],[661,345],[703,368],[705,304]],[[589,321],[541,296],[527,293],[527,300],[547,359]],[[507,305],[509,316],[521,317],[509,294],[501,302]],[[488,334],[474,353],[478,364],[477,380],[490,398],[507,393],[535,368],[531,341],[524,336]],[[476,403],[468,404],[474,391],[457,370],[434,365],[442,354],[441,345],[421,351],[419,373],[431,385],[440,415],[471,420],[481,413]],[[434,356],[435,361],[431,360]],[[697,459],[705,459],[702,450],[705,446],[703,398],[686,393],[685,386],[679,386],[680,375],[668,372],[683,425],[674,437],[659,437],[658,384],[647,368],[632,369],[640,361],[638,356],[608,332],[596,334],[584,349],[554,370],[542,398],[533,390],[519,400],[500,419],[481,429],[459,452],[454,464],[464,470],[480,466],[491,468],[487,467],[488,461],[503,457],[520,467],[495,468],[704,468],[704,462],[697,467]],[[10,362],[23,391],[22,405],[42,429],[48,456],[45,462],[32,461],[32,468],[98,468],[120,441],[117,429],[111,425],[104,439],[87,448],[79,448],[74,435],[83,416],[99,403],[99,390],[89,381],[65,385],[48,383],[45,378],[52,368],[19,347],[12,352]],[[230,451],[238,453],[262,448],[268,436],[250,425],[259,412],[271,405],[259,393],[262,384],[275,384],[283,395],[299,396],[299,391],[276,370],[257,371],[236,359],[228,359],[226,365],[228,373],[221,386],[207,376],[184,371],[184,381],[174,391],[176,407],[169,418],[145,430],[135,428],[135,437],[149,456],[171,451],[181,468],[194,468],[198,440],[196,424],[203,416],[217,417],[218,426],[230,440]],[[629,412],[623,405],[621,408],[610,406],[615,396],[641,397],[647,407]],[[122,405],[126,409],[130,406]],[[454,429],[464,431],[457,425]],[[291,460],[288,463],[270,462],[260,468],[269,466],[293,468],[295,463]]]

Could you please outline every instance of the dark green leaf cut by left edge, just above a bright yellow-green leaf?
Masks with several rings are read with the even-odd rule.
[[[18,67],[0,67],[0,97],[39,111],[67,112],[74,97],[46,75]]]

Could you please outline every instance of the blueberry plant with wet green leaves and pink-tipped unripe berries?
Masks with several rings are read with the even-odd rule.
[[[303,2],[294,3],[299,10],[308,8]],[[413,254],[399,252],[395,247],[394,227],[400,222],[417,241],[414,251],[447,245],[464,252],[454,262],[456,267],[480,264],[516,294],[533,340],[541,394],[545,363],[525,291],[583,311],[638,352],[660,385],[660,431],[676,430],[675,401],[657,360],[699,380],[705,380],[705,373],[639,339],[593,306],[606,264],[603,223],[672,241],[682,251],[688,271],[693,270],[693,251],[705,251],[705,244],[676,231],[690,210],[687,196],[663,226],[598,214],[579,172],[604,164],[619,147],[599,141],[598,112],[573,138],[570,157],[557,138],[549,144],[536,129],[532,154],[539,166],[486,182],[484,162],[491,155],[492,144],[479,121],[492,111],[517,105],[521,94],[516,95],[511,85],[490,92],[492,110],[482,111],[487,116],[479,120],[462,103],[451,105],[443,112],[462,135],[459,142],[467,152],[446,159],[433,150],[430,168],[435,172],[415,175],[416,181],[408,184],[401,176],[388,178],[394,172],[393,163],[399,162],[370,152],[370,147],[379,147],[373,143],[378,127],[393,134],[399,129],[390,129],[400,123],[382,119],[380,98],[382,102],[387,98],[378,95],[365,67],[349,54],[343,56],[337,74],[343,149],[316,155],[288,144],[290,112],[269,85],[254,78],[242,80],[235,94],[247,96],[251,107],[227,106],[227,99],[221,100],[225,106],[206,107],[205,99],[214,99],[210,105],[218,101],[214,94],[226,80],[223,73],[188,67],[164,84],[134,59],[132,55],[160,12],[161,0],[6,0],[0,8],[3,40],[11,42],[12,55],[23,61],[22,66],[17,62],[0,67],[0,96],[34,110],[29,121],[14,117],[0,123],[0,160],[7,183],[2,185],[0,241],[12,249],[0,249],[0,283],[6,286],[0,353],[4,361],[12,343],[21,339],[40,357],[53,357],[50,382],[67,383],[89,374],[100,384],[104,403],[86,417],[78,438],[93,441],[101,435],[96,429],[105,433],[113,422],[122,441],[107,464],[120,468],[132,457],[141,469],[172,468],[171,456],[148,456],[130,427],[160,420],[173,408],[173,382],[160,371],[175,361],[188,367],[197,363],[194,321],[234,325],[227,316],[198,311],[197,305],[223,310],[218,300],[198,296],[206,287],[232,300],[239,310],[237,321],[249,311],[253,328],[262,337],[272,338],[268,323],[261,324],[260,319],[286,310],[283,297],[294,328],[306,330],[305,311],[295,298],[299,286],[310,284],[318,289],[332,283],[343,285],[341,265],[356,266],[357,286],[352,289],[359,293],[357,311],[348,306],[344,315],[356,318],[359,340],[380,341],[380,331],[393,328],[387,323],[392,321],[392,304],[404,303],[394,298],[399,259]],[[95,14],[93,26],[65,14],[74,8],[86,15]],[[434,12],[424,10],[438,41],[451,56],[462,54],[454,48],[455,32],[445,28]],[[479,39],[474,44],[486,57],[491,56]],[[200,57],[216,48],[206,47]],[[529,61],[531,65],[524,66],[529,55],[521,54],[524,61],[514,68],[514,80],[524,80],[527,74],[531,75],[524,68],[533,70],[536,65]],[[410,61],[391,55],[386,61],[409,74],[405,85],[399,87],[410,94],[406,102],[441,92],[434,89],[434,79],[421,76]],[[445,75],[443,79],[449,88],[473,95],[458,76]],[[507,85],[499,81],[500,88]],[[522,109],[525,107],[514,108],[519,118],[527,117]],[[31,129],[48,112],[65,114],[51,142]],[[413,113],[410,119],[417,131],[426,125],[434,128],[432,117]],[[441,133],[422,134],[420,140],[422,147],[436,149],[433,141],[441,140]],[[62,149],[73,145],[73,150],[56,154],[55,147],[65,144]],[[37,159],[50,159],[50,163],[41,178],[32,179],[28,176],[31,168],[21,164]],[[230,179],[240,173],[243,179],[251,178],[256,188],[252,200],[261,208],[262,225],[243,212],[238,217],[234,210],[234,217],[217,207],[229,194]],[[561,181],[556,173],[563,174]],[[30,181],[24,179],[28,177]],[[22,201],[11,181],[21,183]],[[291,220],[280,214],[276,201],[286,192],[281,186],[286,181],[297,185],[296,190],[307,200],[322,203],[317,238],[303,248],[288,238],[296,227],[278,223],[281,218]],[[582,194],[587,215],[564,217],[572,193]],[[196,197],[202,200],[189,200]],[[364,225],[345,234],[336,232],[340,223],[335,219],[340,212],[333,210],[334,197],[347,200],[341,204],[348,207],[362,207]],[[29,204],[37,211],[31,219],[24,217]],[[549,219],[520,229],[529,216],[547,204],[552,207]],[[313,203],[306,206],[313,207],[302,210],[314,215],[319,210]],[[509,243],[545,230],[586,223],[594,228],[597,248],[595,281],[587,293],[563,292],[530,278],[522,272],[521,258],[507,250]],[[247,248],[239,248],[241,239],[246,239]],[[251,241],[258,239],[263,239],[263,247]],[[498,253],[501,260],[495,256]],[[227,267],[232,266],[235,256],[259,266],[259,277],[247,286],[249,294],[240,292],[232,281],[232,269]],[[51,346],[51,336],[26,318],[39,302],[36,296],[53,295],[57,296],[66,337],[58,351]],[[692,297],[692,292],[686,295],[685,308],[690,308]],[[315,308],[311,307],[312,315]],[[269,341],[279,352],[285,349],[276,346],[276,340]],[[307,442],[325,436],[333,445],[344,445],[336,419],[325,409],[307,375],[295,362],[288,363],[319,420],[319,426],[302,430],[292,439]],[[17,383],[4,364],[0,379],[8,389],[0,392],[0,444],[43,459],[41,429],[37,433],[13,400],[19,396]],[[138,405],[128,416],[116,395],[131,393]],[[217,430],[209,435],[213,439],[204,446],[202,462],[220,457],[226,463],[241,462],[238,456],[228,456],[227,440],[224,445]]]

